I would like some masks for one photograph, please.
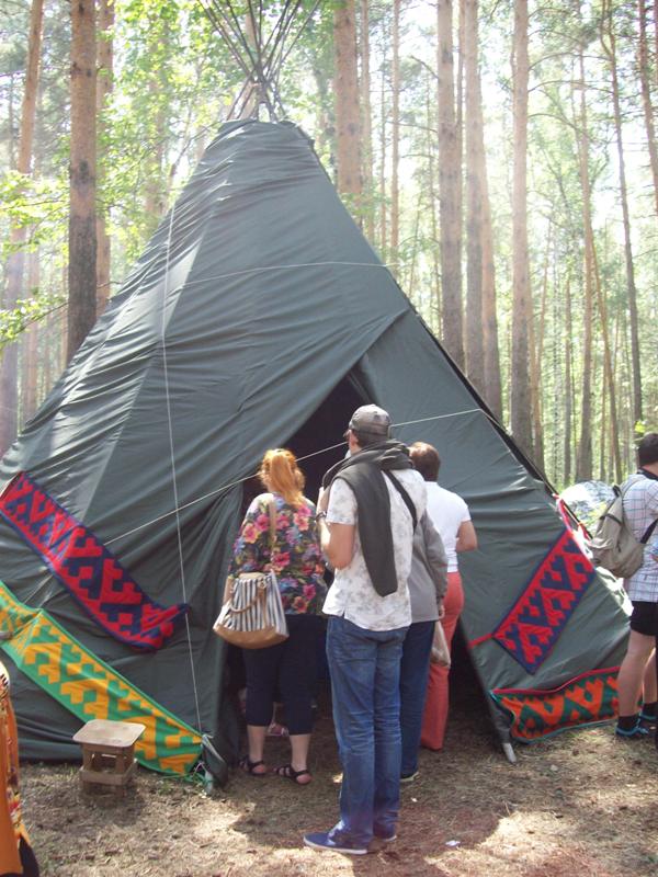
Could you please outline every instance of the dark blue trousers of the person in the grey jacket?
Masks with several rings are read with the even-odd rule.
[[[418,771],[418,748],[422,713],[428,693],[430,652],[435,622],[416,622],[407,630],[400,664],[400,729],[402,732],[402,776]]]

